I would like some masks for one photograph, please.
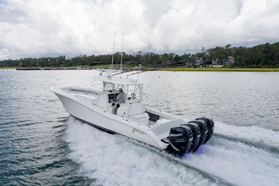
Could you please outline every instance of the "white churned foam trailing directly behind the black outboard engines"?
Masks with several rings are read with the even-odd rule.
[[[200,148],[183,161],[236,185],[279,185],[278,154],[214,137]]]

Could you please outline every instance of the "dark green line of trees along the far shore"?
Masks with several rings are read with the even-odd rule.
[[[235,62],[230,64],[230,67],[239,68],[279,68],[279,42],[273,44],[261,44],[254,47],[231,47],[226,45],[225,47],[215,47],[201,49],[201,52],[195,54],[184,53],[178,55],[175,53],[156,54],[153,52],[138,51],[134,54],[126,54],[123,52],[122,64],[163,64],[166,62],[178,62],[182,60],[189,60],[195,58],[203,58],[203,60],[210,60],[218,58],[218,63],[222,63],[228,56],[235,57]],[[65,58],[65,56],[59,57],[41,57],[41,58],[21,58],[17,60],[1,60],[0,66],[16,67],[19,66],[19,61],[22,63],[22,67],[51,67],[51,66],[75,66],[96,64],[109,65],[112,62],[112,54],[106,55],[79,55],[74,58]],[[113,56],[113,64],[121,63],[121,52],[116,52]],[[205,64],[211,64],[211,61],[205,62]]]

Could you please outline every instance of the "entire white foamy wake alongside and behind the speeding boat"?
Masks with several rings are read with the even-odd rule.
[[[227,133],[229,128],[232,133]],[[239,128],[217,122],[218,135],[182,159],[73,117],[63,138],[69,143],[68,158],[80,165],[78,175],[90,179],[91,185],[279,185],[278,153],[243,142],[258,144],[264,139],[276,148],[278,135],[272,140],[276,132],[267,130],[271,136],[262,138],[257,134],[266,129],[252,129],[248,131],[253,138],[247,130],[236,134]]]

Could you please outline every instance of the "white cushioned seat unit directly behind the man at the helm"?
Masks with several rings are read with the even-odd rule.
[[[144,105],[138,98],[128,100],[126,105],[117,109],[117,116],[128,118],[139,124],[148,125],[149,115],[145,112]]]

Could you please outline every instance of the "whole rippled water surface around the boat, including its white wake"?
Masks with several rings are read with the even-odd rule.
[[[278,72],[141,73],[147,106],[215,122],[182,159],[83,124],[49,91],[101,88],[97,74],[0,70],[1,185],[279,185]]]

